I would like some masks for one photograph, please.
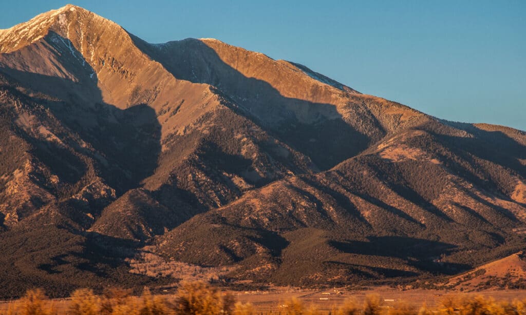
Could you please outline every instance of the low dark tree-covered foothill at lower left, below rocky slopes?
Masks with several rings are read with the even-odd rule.
[[[77,288],[142,290],[145,285],[165,281],[131,274],[114,248],[102,249],[100,239],[61,225],[49,224],[49,217],[42,216],[31,228],[17,226],[0,233],[0,297],[21,296],[28,287],[64,297]]]

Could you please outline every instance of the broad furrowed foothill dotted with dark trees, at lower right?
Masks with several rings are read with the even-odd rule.
[[[198,215],[159,237],[159,254],[200,265],[246,262],[252,277],[270,269],[263,278],[274,283],[345,285],[356,280],[356,266],[360,279],[454,274],[521,249],[523,169],[483,160],[470,146],[451,144],[447,133],[498,150],[478,138],[484,133],[424,124],[329,171],[274,182]],[[302,237],[288,238],[313,228],[316,233],[305,232],[309,246]],[[247,230],[274,233],[289,244],[271,255],[274,244]],[[199,237],[212,231],[223,236]],[[291,272],[295,268],[302,271]],[[244,279],[246,270],[230,276]]]

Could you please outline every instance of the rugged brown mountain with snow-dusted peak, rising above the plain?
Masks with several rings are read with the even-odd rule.
[[[149,44],[67,5],[0,30],[0,104],[4,297],[197,269],[234,285],[407,282],[526,244],[524,131],[216,39]]]

